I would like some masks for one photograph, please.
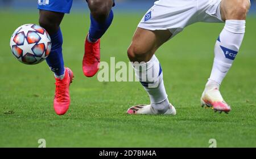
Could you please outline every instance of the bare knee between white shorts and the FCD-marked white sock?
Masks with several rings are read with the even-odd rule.
[[[249,8],[248,0],[233,1],[232,7],[226,9],[226,19],[245,20]]]

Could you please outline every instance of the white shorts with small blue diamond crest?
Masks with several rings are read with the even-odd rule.
[[[159,0],[147,11],[139,28],[169,30],[172,37],[196,22],[221,23],[221,0]]]

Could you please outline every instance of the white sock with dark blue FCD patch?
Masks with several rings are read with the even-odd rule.
[[[244,34],[245,20],[226,20],[215,44],[213,68],[207,85],[221,84],[236,58]]]

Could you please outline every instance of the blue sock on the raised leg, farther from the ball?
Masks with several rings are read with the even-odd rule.
[[[92,15],[90,15],[90,30],[89,30],[89,39],[92,42],[97,41],[101,38],[104,33],[108,30],[112,20],[114,18],[114,13],[111,10],[109,12],[108,18],[105,20],[104,23],[98,23]]]

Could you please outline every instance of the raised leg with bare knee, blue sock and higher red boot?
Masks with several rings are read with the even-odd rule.
[[[87,0],[90,8],[90,29],[85,39],[85,54],[82,70],[85,76],[92,77],[98,71],[100,63],[100,38],[113,20],[113,0]]]

